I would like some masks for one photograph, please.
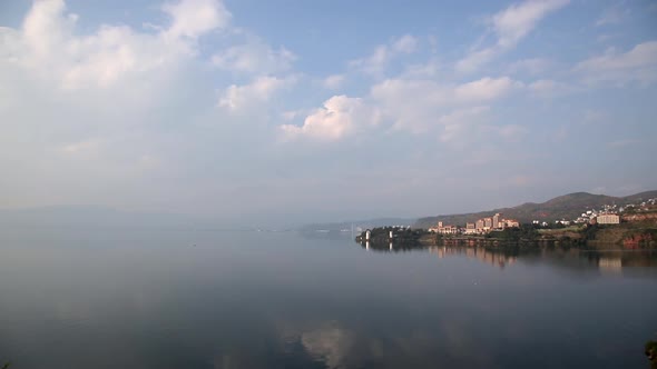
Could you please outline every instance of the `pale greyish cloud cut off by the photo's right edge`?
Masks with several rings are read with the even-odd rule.
[[[657,81],[657,41],[639,43],[624,53],[609,49],[579,62],[573,70],[587,82],[653,83]]]

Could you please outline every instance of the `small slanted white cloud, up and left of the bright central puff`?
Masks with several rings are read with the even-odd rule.
[[[232,84],[219,99],[219,107],[233,112],[247,111],[252,108],[269,101],[277,91],[287,88],[296,79],[294,77],[258,77],[253,82],[244,86]]]

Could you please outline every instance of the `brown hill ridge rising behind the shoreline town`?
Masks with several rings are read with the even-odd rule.
[[[647,199],[657,198],[656,191],[640,192],[626,197],[612,197],[606,195],[592,195],[588,192],[575,192],[560,196],[541,203],[527,202],[512,208],[492,209],[488,211],[471,212],[463,215],[445,215],[435,217],[420,218],[414,223],[418,228],[429,228],[437,221],[443,221],[448,225],[462,226],[465,222],[473,222],[477,219],[490,217],[500,212],[504,218],[517,219],[521,223],[531,222],[532,220],[557,220],[557,219],[576,219],[586,210],[599,209],[604,205],[625,206],[637,203]]]

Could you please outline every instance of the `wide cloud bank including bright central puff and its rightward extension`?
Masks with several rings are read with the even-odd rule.
[[[364,98],[335,96],[308,114],[303,126],[283,124],[281,129],[286,138],[337,141],[380,126],[377,131],[437,131],[442,141],[453,142],[462,138],[464,130],[484,120],[489,108],[482,103],[519,88],[522,83],[508,77],[487,77],[460,84],[386,79],[374,84]]]

